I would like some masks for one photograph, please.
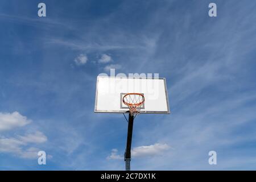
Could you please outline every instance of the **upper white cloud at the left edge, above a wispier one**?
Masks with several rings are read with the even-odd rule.
[[[19,114],[17,111],[14,113],[0,113],[0,131],[11,130],[15,127],[22,127],[31,121]]]

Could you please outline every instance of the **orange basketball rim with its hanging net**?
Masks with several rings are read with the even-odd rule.
[[[129,107],[130,114],[133,116],[141,112],[144,101],[144,96],[140,93],[127,93],[123,96],[123,104]]]

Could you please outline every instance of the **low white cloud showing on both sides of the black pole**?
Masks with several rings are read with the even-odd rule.
[[[140,146],[135,147],[131,150],[131,156],[134,158],[144,157],[144,156],[154,156],[162,154],[164,151],[167,151],[170,148],[168,144],[155,143],[150,146]],[[123,159],[122,155],[117,154],[118,150],[113,149],[111,154],[107,159]]]

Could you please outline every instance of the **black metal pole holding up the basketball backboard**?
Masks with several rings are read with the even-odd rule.
[[[129,113],[127,143],[126,143],[126,151],[125,151],[125,169],[126,169],[126,171],[130,171],[131,138],[133,137],[133,121],[134,121],[134,116]]]

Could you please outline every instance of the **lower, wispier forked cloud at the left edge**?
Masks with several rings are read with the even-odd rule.
[[[20,158],[34,159],[37,158],[38,151],[40,150],[36,147],[24,147],[30,143],[39,144],[46,141],[47,137],[39,131],[16,138],[0,138],[0,152],[13,154]]]

